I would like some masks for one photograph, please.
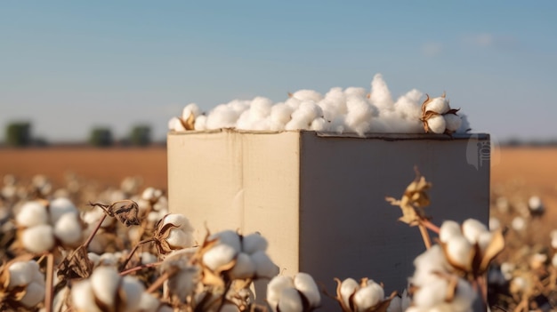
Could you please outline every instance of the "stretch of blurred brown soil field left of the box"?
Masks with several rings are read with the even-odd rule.
[[[0,176],[13,174],[30,180],[44,174],[61,185],[67,173],[116,187],[126,177],[140,176],[144,186],[166,189],[166,148],[4,148],[0,149]]]

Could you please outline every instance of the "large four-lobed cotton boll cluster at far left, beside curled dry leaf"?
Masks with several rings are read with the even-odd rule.
[[[77,246],[82,241],[83,227],[76,206],[67,198],[52,202],[31,201],[21,205],[16,215],[21,244],[29,252],[52,250],[56,241]]]

